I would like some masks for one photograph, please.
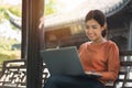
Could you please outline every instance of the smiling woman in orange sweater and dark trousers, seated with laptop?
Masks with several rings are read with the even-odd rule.
[[[107,81],[114,81],[119,73],[119,50],[116,43],[108,41],[107,20],[99,10],[86,15],[86,35],[90,40],[80,45],[79,56],[86,74],[95,73],[100,78],[85,76],[53,75],[44,88],[105,88]]]

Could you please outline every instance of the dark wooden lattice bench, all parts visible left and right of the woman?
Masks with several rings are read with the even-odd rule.
[[[121,69],[118,79],[113,84],[107,84],[106,88],[132,88],[132,51],[120,52],[120,61]],[[48,69],[43,64],[43,85],[48,77]],[[26,88],[25,59],[7,61],[3,63],[0,88]]]

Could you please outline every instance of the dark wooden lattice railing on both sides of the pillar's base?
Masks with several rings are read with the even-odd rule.
[[[48,78],[50,73],[46,65],[43,65],[42,84]],[[26,61],[6,61],[0,76],[0,88],[26,88]]]

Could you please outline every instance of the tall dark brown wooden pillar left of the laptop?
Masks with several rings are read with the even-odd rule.
[[[22,56],[28,59],[26,88],[42,88],[38,25],[43,13],[44,0],[22,0]]]

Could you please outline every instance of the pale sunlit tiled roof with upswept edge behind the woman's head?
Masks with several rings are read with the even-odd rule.
[[[99,9],[109,15],[109,12],[120,8],[131,0],[86,0],[77,8],[65,13],[56,13],[44,19],[45,28],[65,25],[73,22],[82,21],[89,10]]]

